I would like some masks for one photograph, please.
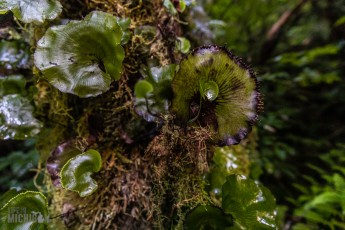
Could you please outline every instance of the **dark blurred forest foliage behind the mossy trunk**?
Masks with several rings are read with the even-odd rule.
[[[345,229],[345,1],[190,2],[182,16],[192,47],[224,45],[257,72],[265,112],[250,176],[276,197],[280,227]],[[28,46],[8,34],[1,28],[1,76],[27,68]],[[0,193],[32,189],[34,142],[1,141],[0,150]]]

